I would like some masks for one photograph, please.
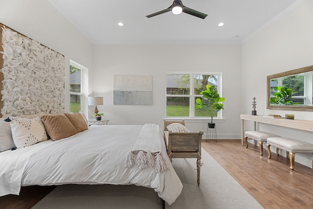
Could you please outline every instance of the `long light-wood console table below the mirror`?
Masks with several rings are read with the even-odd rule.
[[[286,118],[270,118],[264,116],[251,116],[251,115],[240,115],[241,119],[241,144],[244,145],[245,140],[245,120],[254,121],[254,131],[257,131],[257,122],[267,123],[271,125],[284,126],[287,128],[294,128],[303,131],[313,132],[313,121],[312,120],[294,120]]]

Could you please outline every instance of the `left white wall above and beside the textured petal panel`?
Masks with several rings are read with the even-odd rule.
[[[65,101],[69,111],[69,59],[89,69],[90,83],[93,45],[47,0],[0,0],[0,23],[65,55]],[[85,104],[88,107],[86,98]]]

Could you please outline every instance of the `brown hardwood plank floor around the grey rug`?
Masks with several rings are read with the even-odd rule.
[[[268,159],[266,149],[260,156],[258,146],[249,144],[246,149],[239,139],[219,139],[217,143],[203,140],[202,147],[265,209],[313,208],[312,168],[294,163],[294,170],[291,170],[286,158],[272,153]],[[0,208],[29,209],[54,188],[22,187],[20,196],[0,197]]]

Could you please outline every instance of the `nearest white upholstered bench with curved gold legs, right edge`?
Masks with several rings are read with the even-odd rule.
[[[279,149],[286,150],[286,156],[290,159],[290,168],[293,170],[294,155],[295,153],[313,153],[313,144],[290,139],[285,137],[268,138],[266,148],[268,149],[268,158],[270,158],[270,146],[276,147],[276,154],[279,155]],[[313,167],[313,161],[312,161]]]

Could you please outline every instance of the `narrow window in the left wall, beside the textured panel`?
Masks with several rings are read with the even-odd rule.
[[[70,112],[72,113],[77,113],[83,110],[85,69],[86,69],[85,67],[70,60],[69,93],[70,93]]]

